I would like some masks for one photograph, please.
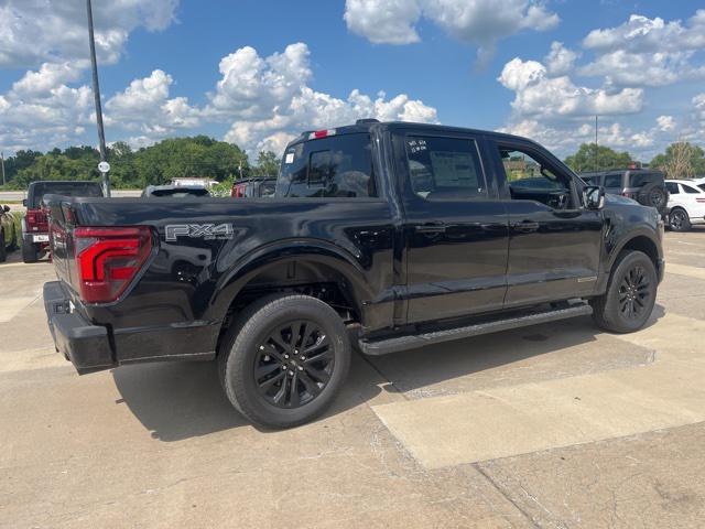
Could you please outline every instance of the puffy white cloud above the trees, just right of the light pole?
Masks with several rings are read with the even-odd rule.
[[[134,79],[106,104],[106,126],[117,125],[152,137],[197,127],[200,110],[188,105],[185,97],[169,98],[173,82],[172,76],[161,69],[155,69],[149,77]]]

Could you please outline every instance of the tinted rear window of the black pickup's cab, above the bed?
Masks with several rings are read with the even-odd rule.
[[[361,198],[377,196],[368,133],[311,140],[286,149],[276,196]]]

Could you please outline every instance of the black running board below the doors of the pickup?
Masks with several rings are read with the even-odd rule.
[[[566,309],[553,309],[544,312],[533,312],[521,316],[505,320],[495,320],[464,327],[449,328],[446,331],[435,331],[424,334],[404,335],[389,339],[370,342],[358,341],[360,350],[366,355],[380,356],[400,350],[416,349],[426,345],[440,344],[452,339],[469,338],[482,334],[508,331],[510,328],[527,327],[540,323],[555,322],[575,316],[586,316],[593,313],[593,307],[587,303],[568,306]]]

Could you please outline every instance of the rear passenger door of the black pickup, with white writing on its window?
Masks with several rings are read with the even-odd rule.
[[[502,307],[508,222],[471,133],[398,130],[410,323]]]

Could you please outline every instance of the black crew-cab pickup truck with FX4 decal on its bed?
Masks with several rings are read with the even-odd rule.
[[[59,280],[44,302],[78,373],[216,359],[232,404],[269,427],[321,413],[351,346],[382,355],[590,313],[631,332],[664,272],[655,209],[527,139],[442,126],[305,132],[274,198],[46,203]]]

